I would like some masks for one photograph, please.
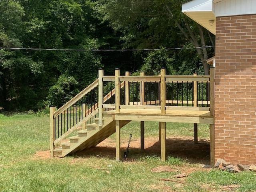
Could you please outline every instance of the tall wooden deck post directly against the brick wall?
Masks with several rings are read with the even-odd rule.
[[[210,115],[214,117],[214,94],[215,94],[215,68],[210,67]],[[215,156],[214,156],[214,124],[210,124],[210,158],[211,158],[211,165],[215,163]]]

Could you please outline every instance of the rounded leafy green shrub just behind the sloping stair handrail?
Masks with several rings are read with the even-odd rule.
[[[60,107],[78,93],[78,82],[74,77],[61,75],[58,82],[49,90],[48,100],[51,105]]]

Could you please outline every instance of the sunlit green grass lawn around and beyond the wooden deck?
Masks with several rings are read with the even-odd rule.
[[[139,123],[131,122],[122,128],[121,137],[128,140],[133,134],[140,136]],[[188,138],[193,136],[192,124],[167,124],[167,136]],[[145,137],[158,137],[158,123],[146,122]],[[209,138],[207,125],[199,126],[199,138]],[[114,135],[110,136],[114,142]],[[129,162],[116,162],[113,158],[93,155],[65,158],[36,158],[37,151],[49,149],[48,116],[0,115],[0,191],[1,192],[198,192],[202,185],[239,184],[240,192],[256,191],[256,173],[231,174],[214,169],[203,169],[200,164],[186,158],[169,156],[160,162],[158,156],[130,155]],[[97,148],[95,148],[97,149]],[[189,150],[189,149],[188,149]],[[170,166],[179,173],[191,171],[182,179],[187,185],[166,182],[160,178],[173,178],[176,172],[153,173],[152,168]],[[94,169],[95,167],[108,170]],[[176,178],[176,180],[178,180]],[[220,190],[212,190],[220,191]]]

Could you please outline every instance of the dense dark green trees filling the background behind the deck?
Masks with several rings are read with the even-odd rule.
[[[160,48],[138,52],[0,50],[0,110],[61,106],[97,77],[144,70],[208,74],[214,36],[181,13],[185,0],[4,0],[0,46]],[[164,48],[203,48],[169,50]]]

